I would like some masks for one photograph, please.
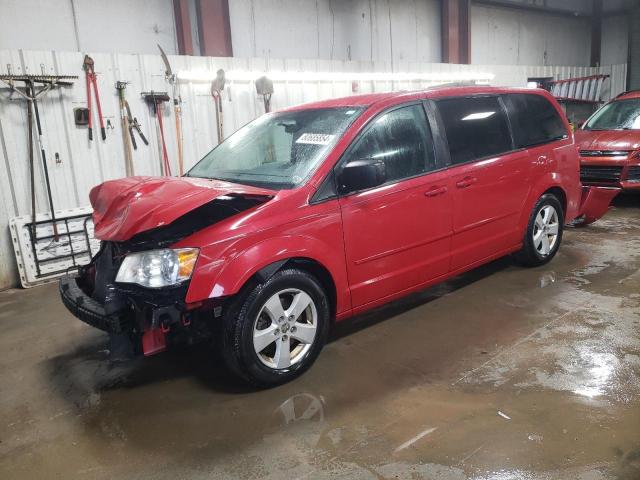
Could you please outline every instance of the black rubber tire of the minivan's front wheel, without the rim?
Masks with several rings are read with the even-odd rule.
[[[254,326],[261,321],[258,315],[267,300],[287,289],[300,290],[311,297],[317,312],[316,333],[306,353],[295,363],[288,368],[270,368],[254,349]],[[329,324],[329,301],[315,277],[294,268],[280,270],[263,283],[253,282],[247,285],[227,310],[222,331],[225,363],[233,373],[252,385],[280,385],[300,376],[313,364],[326,342]],[[294,341],[293,335],[290,340]]]

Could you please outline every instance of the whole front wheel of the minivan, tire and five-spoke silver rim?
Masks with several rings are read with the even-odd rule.
[[[230,369],[268,387],[301,375],[315,361],[329,328],[329,302],[305,271],[285,269],[240,294],[224,320]]]

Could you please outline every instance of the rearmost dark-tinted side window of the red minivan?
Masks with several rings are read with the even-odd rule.
[[[530,147],[567,136],[558,111],[546,98],[527,93],[505,95],[503,98],[517,147]]]

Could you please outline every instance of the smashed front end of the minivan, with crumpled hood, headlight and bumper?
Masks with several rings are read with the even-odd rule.
[[[64,305],[83,322],[108,332],[111,350],[120,355],[152,355],[169,343],[209,338],[210,320],[220,315],[223,300],[185,302],[199,246],[172,245],[272,195],[251,188],[225,191],[224,185],[213,182],[203,187],[201,181],[188,179],[144,178],[133,187],[131,179],[114,182],[121,182],[122,188],[107,182],[97,187],[98,193],[92,192],[95,231],[102,244],[88,265],[60,279]],[[155,197],[148,209],[140,195],[145,190]],[[176,197],[178,190],[188,194]],[[104,192],[111,198],[105,199]],[[160,257],[167,252],[174,255],[163,264]],[[185,252],[183,262],[180,255]]]

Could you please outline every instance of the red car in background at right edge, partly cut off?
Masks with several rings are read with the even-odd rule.
[[[575,136],[584,184],[640,189],[640,91],[603,105]]]

